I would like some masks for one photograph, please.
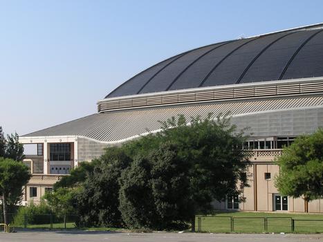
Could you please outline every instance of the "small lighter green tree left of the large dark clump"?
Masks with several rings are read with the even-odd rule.
[[[44,195],[48,205],[59,218],[64,218],[64,228],[66,229],[66,217],[68,214],[75,212],[73,206],[73,197],[75,189],[59,187],[53,192],[48,192]]]

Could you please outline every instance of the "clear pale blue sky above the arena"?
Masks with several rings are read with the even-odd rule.
[[[95,113],[167,57],[316,24],[322,10],[322,0],[0,0],[0,126],[23,135]]]

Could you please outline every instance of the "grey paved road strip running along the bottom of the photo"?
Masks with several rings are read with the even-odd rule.
[[[127,232],[17,232],[0,233],[0,242],[295,242],[323,241],[323,234],[191,234],[154,232],[145,234]]]

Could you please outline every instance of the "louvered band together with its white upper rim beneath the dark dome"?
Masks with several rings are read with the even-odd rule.
[[[306,86],[306,84],[308,86]],[[320,86],[317,86],[317,84]],[[244,84],[181,89],[176,91],[161,91],[122,97],[108,97],[99,100],[97,104],[98,112],[104,113],[107,111],[116,111],[118,109],[136,109],[167,104],[176,105],[192,102],[216,101],[220,99],[230,100],[238,97],[250,98],[268,95],[286,95],[286,92],[292,94],[311,92],[323,93],[323,77],[250,82]]]

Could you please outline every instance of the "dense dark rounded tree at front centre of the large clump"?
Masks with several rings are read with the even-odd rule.
[[[131,228],[183,229],[194,216],[187,165],[174,145],[152,150],[122,174],[120,211]]]

